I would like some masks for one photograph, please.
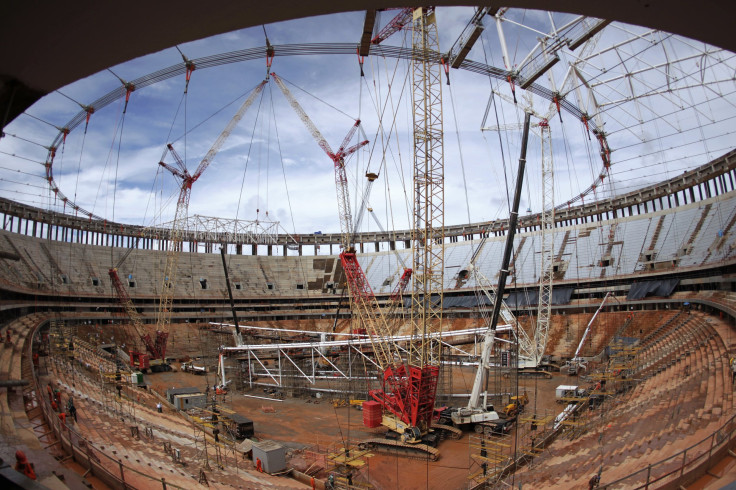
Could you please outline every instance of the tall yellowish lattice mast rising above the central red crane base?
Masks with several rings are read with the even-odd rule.
[[[411,311],[414,334],[422,341],[412,344],[409,364],[423,367],[439,366],[440,361],[439,343],[426,339],[430,332],[441,329],[445,252],[442,69],[431,56],[439,53],[432,7],[414,10],[412,52],[414,288]]]

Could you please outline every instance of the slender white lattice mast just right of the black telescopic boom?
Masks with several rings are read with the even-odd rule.
[[[539,312],[534,331],[535,363],[538,365],[547,347],[552,311],[552,278],[554,275],[555,174],[552,160],[552,136],[549,124],[539,124],[542,140],[542,229],[541,271],[539,274]]]

